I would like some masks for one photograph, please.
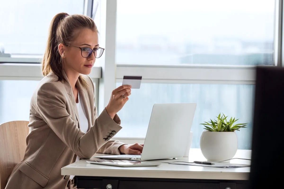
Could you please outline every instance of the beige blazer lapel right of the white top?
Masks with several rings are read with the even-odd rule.
[[[82,86],[82,84],[80,83],[79,79],[76,82],[76,85],[78,87],[78,90],[80,92],[80,96],[82,99],[82,103],[84,105],[85,108],[85,112],[87,115],[87,119],[88,119],[88,131],[91,128],[91,107],[90,107],[90,100],[89,100],[89,95],[87,93],[87,90]]]

